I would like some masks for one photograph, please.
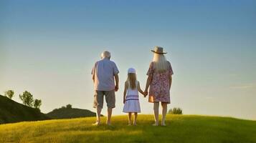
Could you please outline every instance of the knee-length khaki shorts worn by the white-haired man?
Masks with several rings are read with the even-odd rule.
[[[115,108],[115,90],[111,91],[98,91],[94,92],[94,104],[93,107],[100,107],[103,109],[103,97],[105,95],[105,101],[107,102],[108,108]]]

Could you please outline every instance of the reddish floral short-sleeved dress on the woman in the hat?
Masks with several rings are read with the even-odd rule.
[[[170,104],[169,75],[174,74],[171,64],[168,62],[168,70],[165,72],[157,72],[152,61],[147,75],[152,77],[149,88],[148,102],[166,102]]]

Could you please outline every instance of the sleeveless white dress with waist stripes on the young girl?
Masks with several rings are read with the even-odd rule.
[[[130,84],[128,85],[123,112],[141,112],[140,102],[138,101],[138,81],[136,81],[135,89],[131,89]]]

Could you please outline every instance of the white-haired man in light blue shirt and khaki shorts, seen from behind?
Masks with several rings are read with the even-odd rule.
[[[103,109],[104,95],[108,106],[107,124],[110,125],[112,109],[115,108],[115,92],[118,91],[118,73],[118,67],[115,62],[110,61],[110,52],[103,51],[101,60],[95,63],[92,70],[95,91],[93,107],[97,109],[95,125],[100,124],[100,112]]]

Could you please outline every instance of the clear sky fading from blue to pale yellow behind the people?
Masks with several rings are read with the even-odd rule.
[[[114,114],[123,114],[127,69],[144,89],[150,50],[163,46],[174,69],[169,108],[256,119],[256,1],[4,0],[0,17],[0,93],[14,89],[20,102],[28,90],[42,112],[93,110],[90,71],[108,50],[120,69]],[[152,114],[147,101],[142,113]]]

